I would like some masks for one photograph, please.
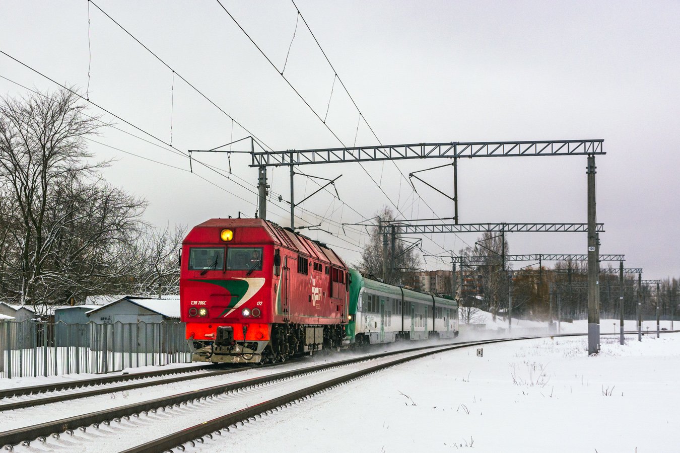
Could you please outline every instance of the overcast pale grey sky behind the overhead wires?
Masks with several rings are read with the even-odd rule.
[[[272,149],[341,144],[269,65],[216,1],[95,3]],[[289,0],[222,3],[345,145],[377,140],[336,81]],[[675,1],[307,1],[297,0],[330,62],[381,143],[605,139],[598,156],[600,253],[625,253],[643,278],[680,275],[676,149],[680,117],[680,3]],[[86,90],[90,100],[170,141],[206,149],[248,135],[174,77],[88,2],[0,0],[0,50],[56,81]],[[88,52],[91,48],[91,53]],[[91,58],[90,58],[91,55]],[[88,67],[90,78],[88,79]],[[0,55],[0,75],[54,90],[52,82]],[[0,78],[0,93],[25,92]],[[330,106],[328,100],[330,97]],[[92,113],[101,113],[92,106]],[[104,114],[106,120],[111,120]],[[188,159],[120,120],[90,143],[99,158],[116,158],[104,176],[150,203],[156,225],[195,225],[211,217],[252,217],[256,170],[231,157],[231,179]],[[118,148],[166,165],[112,149]],[[246,147],[235,146],[234,151]],[[222,168],[225,155],[194,155]],[[463,160],[460,220],[585,222],[585,156]],[[444,160],[396,162],[408,177]],[[452,203],[416,181],[413,194],[392,162],[364,164],[411,218],[453,214]],[[337,181],[342,201],[322,192],[297,213],[298,225],[358,259],[367,236],[339,226],[391,206],[357,164],[301,168]],[[451,190],[450,170],[428,181]],[[288,170],[269,173],[269,219],[288,225]],[[211,184],[213,183],[213,184]],[[241,187],[242,184],[247,188]],[[296,197],[316,190],[296,179]],[[283,202],[278,202],[279,194]],[[427,253],[473,244],[477,234],[425,238]],[[511,234],[511,253],[586,253],[585,234]],[[606,266],[607,264],[605,264]],[[520,267],[521,264],[515,264]],[[428,259],[428,269],[448,268]]]

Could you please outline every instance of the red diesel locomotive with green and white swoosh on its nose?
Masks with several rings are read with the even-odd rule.
[[[262,219],[210,219],[186,236],[180,263],[194,361],[272,363],[341,346],[347,267],[325,244]]]

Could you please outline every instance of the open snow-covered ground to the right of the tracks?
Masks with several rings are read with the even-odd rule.
[[[444,352],[232,430],[201,451],[677,452],[680,334]],[[188,451],[193,451],[188,449]]]

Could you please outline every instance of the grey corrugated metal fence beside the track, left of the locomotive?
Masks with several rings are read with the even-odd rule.
[[[188,363],[182,323],[0,323],[0,378]]]

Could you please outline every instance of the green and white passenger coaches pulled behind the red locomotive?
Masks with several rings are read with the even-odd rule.
[[[350,320],[345,344],[458,336],[458,304],[432,294],[387,285],[350,269]]]

